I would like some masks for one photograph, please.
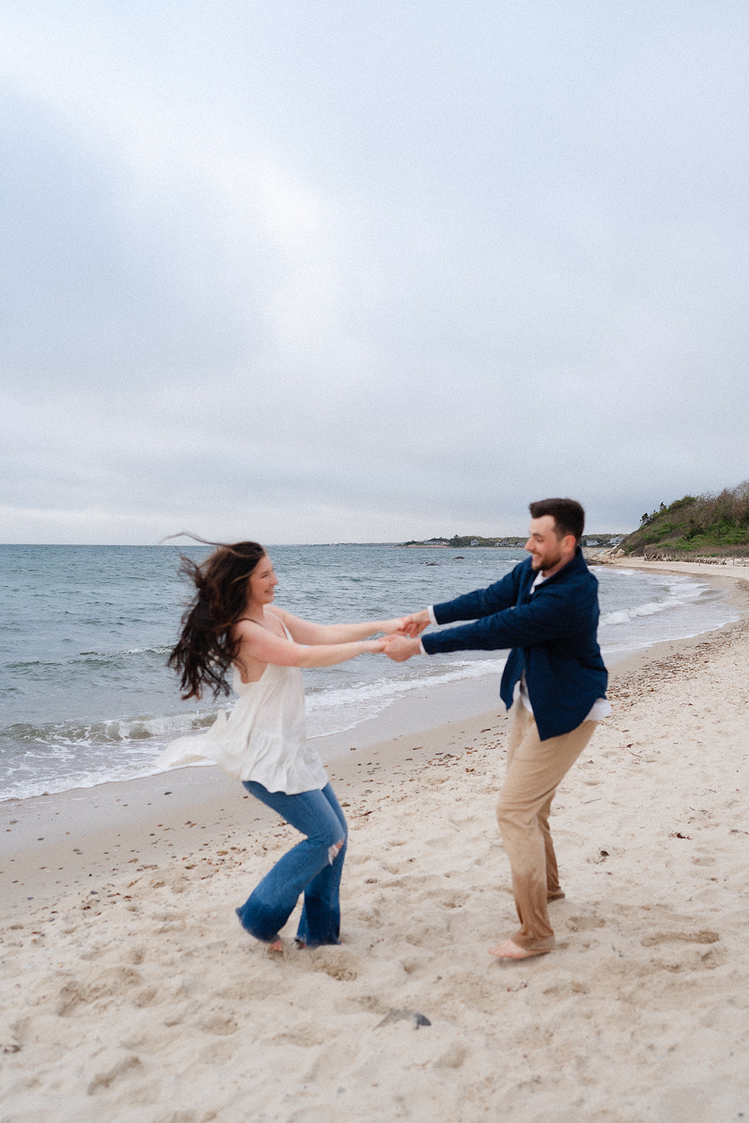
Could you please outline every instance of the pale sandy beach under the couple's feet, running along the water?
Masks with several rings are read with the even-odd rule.
[[[243,932],[294,832],[213,768],[0,805],[0,1123],[749,1119],[746,620],[610,697],[555,804],[558,947],[524,962],[486,953],[517,926],[499,700],[330,764],[340,947]]]

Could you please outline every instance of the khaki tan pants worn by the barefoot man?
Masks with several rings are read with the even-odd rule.
[[[511,718],[508,774],[496,803],[496,818],[510,859],[520,917],[520,930],[512,940],[532,951],[550,951],[554,931],[547,902],[564,893],[549,832],[549,811],[557,785],[591,740],[597,722],[584,721],[569,733],[541,741],[536,719],[520,699],[512,706]]]

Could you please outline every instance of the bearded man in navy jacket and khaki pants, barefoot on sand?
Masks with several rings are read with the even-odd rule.
[[[547,903],[564,893],[549,832],[557,785],[611,712],[608,674],[596,640],[599,583],[579,547],[585,512],[570,499],[530,504],[529,558],[488,588],[407,617],[386,638],[396,663],[419,651],[512,648],[500,694],[512,724],[508,772],[496,805],[519,931],[490,955],[527,959],[554,948]],[[473,620],[431,632],[429,626]]]

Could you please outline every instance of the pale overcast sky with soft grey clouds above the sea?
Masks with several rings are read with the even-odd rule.
[[[749,477],[749,8],[4,0],[1,539]]]

